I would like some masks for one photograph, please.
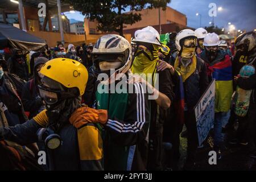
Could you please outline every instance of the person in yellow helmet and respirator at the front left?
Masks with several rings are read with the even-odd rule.
[[[41,68],[40,96],[46,110],[22,125],[0,128],[6,140],[21,145],[42,142],[49,170],[102,170],[100,123],[106,123],[106,110],[81,106],[88,72],[71,59],[47,61]]]

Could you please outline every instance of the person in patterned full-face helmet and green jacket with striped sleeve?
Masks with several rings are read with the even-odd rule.
[[[141,83],[129,80],[134,92],[128,91],[129,84],[125,79],[129,77],[131,54],[130,43],[113,34],[102,36],[92,52],[94,73],[108,75],[98,85],[96,92],[97,109],[108,110],[109,117],[104,140],[106,170],[146,170],[150,109],[148,95]],[[127,85],[122,93],[117,90],[122,89],[117,88],[120,82]],[[112,85],[116,86],[115,90],[101,92],[101,89],[104,90],[106,86],[111,88]]]

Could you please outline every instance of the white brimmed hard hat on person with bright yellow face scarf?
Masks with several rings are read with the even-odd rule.
[[[131,41],[144,42],[144,43],[156,44],[158,46],[161,46],[160,35],[158,31],[156,31],[155,28],[151,26],[147,26],[145,28],[142,28],[142,30],[135,31],[134,39]]]

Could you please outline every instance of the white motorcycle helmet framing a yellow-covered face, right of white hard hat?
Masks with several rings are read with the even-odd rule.
[[[181,51],[181,48],[183,46],[183,40],[185,39],[189,39],[189,38],[196,38],[196,35],[195,35],[195,32],[193,30],[190,30],[190,29],[184,29],[184,30],[181,30],[176,38],[175,38],[175,45],[176,45],[176,48],[177,50],[180,52]]]

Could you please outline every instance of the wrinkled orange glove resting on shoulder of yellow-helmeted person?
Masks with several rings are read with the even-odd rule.
[[[80,107],[69,118],[69,122],[77,129],[86,123],[105,124],[108,121],[108,111],[104,109],[93,109]]]

